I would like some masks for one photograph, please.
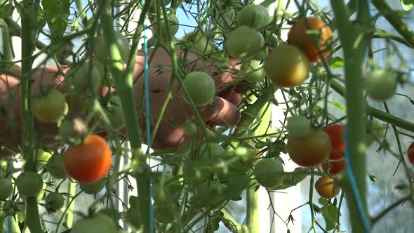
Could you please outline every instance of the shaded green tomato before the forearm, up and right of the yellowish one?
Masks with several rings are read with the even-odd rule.
[[[101,74],[96,65],[86,61],[80,67],[74,67],[69,70],[68,78],[65,79],[69,92],[73,95],[79,95],[85,91],[96,91],[100,85]]]

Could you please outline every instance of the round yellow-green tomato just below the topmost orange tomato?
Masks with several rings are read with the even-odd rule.
[[[281,45],[270,51],[265,60],[265,71],[274,84],[294,87],[307,79],[309,62],[295,46]]]

